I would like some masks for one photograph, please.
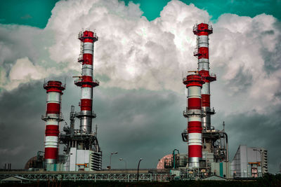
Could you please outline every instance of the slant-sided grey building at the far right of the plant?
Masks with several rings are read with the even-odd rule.
[[[233,178],[259,177],[268,173],[268,151],[240,145],[230,164]]]

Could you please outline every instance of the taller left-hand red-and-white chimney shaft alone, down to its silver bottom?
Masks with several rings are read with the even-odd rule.
[[[80,119],[80,130],[86,134],[91,133],[92,118],[96,114],[92,111],[93,88],[99,85],[93,79],[93,43],[98,41],[96,33],[91,31],[80,32],[78,39],[81,41],[81,54],[78,62],[82,64],[81,76],[74,81],[75,85],[81,87],[81,102],[79,102],[80,112],[77,118]]]

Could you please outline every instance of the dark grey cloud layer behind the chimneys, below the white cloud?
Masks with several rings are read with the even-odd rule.
[[[63,80],[63,78],[55,78]],[[41,114],[46,109],[46,92],[41,82],[20,85],[12,92],[4,92],[0,97],[0,166],[12,162],[13,168],[22,168],[25,162],[44,148],[44,121]],[[181,140],[181,132],[186,127],[182,111],[185,109],[185,95],[167,90],[123,90],[103,88],[94,90],[93,109],[98,124],[98,140],[103,151],[103,167],[109,164],[110,153],[113,168],[124,168],[124,158],[128,168],[136,168],[139,158],[143,158],[142,168],[155,168],[159,158],[178,148],[187,151]],[[214,96],[217,97],[217,96]],[[69,123],[70,106],[76,106],[80,89],[67,79],[67,89],[63,95],[63,114]],[[216,100],[216,99],[215,99]],[[213,104],[216,106],[216,102]],[[268,114],[255,111],[226,114],[218,110],[213,117],[216,129],[222,129],[226,121],[226,132],[230,142],[230,159],[240,144],[261,146],[268,149],[270,172],[276,172],[280,164],[281,120],[280,106],[268,109]],[[64,123],[60,124],[62,129]],[[79,120],[76,121],[78,127]],[[61,148],[60,148],[61,149]]]

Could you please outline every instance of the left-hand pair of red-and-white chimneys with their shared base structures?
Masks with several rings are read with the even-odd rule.
[[[60,81],[44,83],[47,92],[45,132],[45,156],[42,160],[46,171],[93,171],[102,169],[102,152],[98,145],[96,132],[92,131],[92,119],[96,118],[93,112],[93,88],[99,85],[93,79],[93,46],[98,41],[96,33],[91,31],[80,32],[81,41],[78,62],[82,64],[81,76],[74,84],[81,87],[80,111],[75,112],[71,106],[70,125],[63,127],[59,132],[58,124],[63,118],[60,113],[60,101],[65,85]],[[74,129],[75,118],[80,120],[80,128]],[[58,155],[58,142],[65,145],[63,155]]]

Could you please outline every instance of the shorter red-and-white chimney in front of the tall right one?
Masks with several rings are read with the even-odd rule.
[[[201,88],[204,81],[200,74],[190,74],[183,79],[188,89],[188,167],[199,167],[202,159],[202,101]]]

